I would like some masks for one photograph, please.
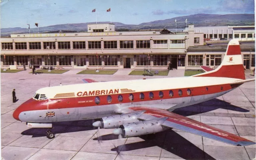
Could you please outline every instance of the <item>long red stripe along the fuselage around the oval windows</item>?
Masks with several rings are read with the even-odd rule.
[[[206,87],[208,91],[206,91]],[[221,89],[222,87],[222,89]],[[191,94],[187,94],[187,89],[191,90]],[[191,87],[191,88],[184,88],[182,90],[182,96],[178,95],[179,89],[168,89],[168,90],[160,90],[164,93],[164,97],[162,99],[174,99],[174,98],[183,98],[183,97],[191,97],[191,96],[199,96],[199,95],[207,95],[213,93],[219,93],[222,91],[228,91],[232,89],[230,84],[223,84],[223,85],[212,85],[212,86],[203,86],[203,87]],[[169,91],[172,90],[174,95],[173,97],[169,96]],[[144,93],[144,100],[140,99],[140,93],[120,93],[111,95],[112,102],[108,103],[107,97],[108,95],[95,95],[95,96],[86,96],[86,97],[72,97],[72,98],[57,98],[57,99],[47,99],[36,101],[34,99],[30,99],[20,105],[18,107],[18,111],[36,111],[36,110],[44,110],[44,109],[64,109],[64,108],[76,108],[76,107],[90,107],[90,106],[97,106],[95,103],[95,97],[100,98],[100,103],[98,105],[114,105],[120,103],[132,103],[132,102],[142,102],[142,101],[154,101],[160,100],[159,92],[160,91],[147,91],[142,92]],[[154,98],[149,98],[149,93],[154,93]],[[134,100],[130,101],[129,96],[130,94],[134,95]],[[118,95],[123,96],[123,101],[118,101]],[[83,103],[81,103],[83,102]],[[31,104],[30,104],[31,103]]]

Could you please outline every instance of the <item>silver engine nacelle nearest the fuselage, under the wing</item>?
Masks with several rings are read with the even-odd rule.
[[[113,115],[109,117],[103,117],[100,121],[94,122],[92,125],[100,128],[118,128],[119,126],[127,123],[138,122],[138,118],[145,111],[135,111],[132,113],[125,113],[122,115]]]

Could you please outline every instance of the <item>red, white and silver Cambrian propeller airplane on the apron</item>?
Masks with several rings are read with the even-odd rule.
[[[204,73],[190,77],[139,79],[45,87],[13,113],[28,128],[48,128],[53,122],[100,119],[94,127],[115,128],[118,138],[154,134],[176,128],[235,146],[255,144],[246,138],[173,113],[174,109],[202,103],[228,93],[245,79],[238,40],[230,40],[217,69],[202,66]]]

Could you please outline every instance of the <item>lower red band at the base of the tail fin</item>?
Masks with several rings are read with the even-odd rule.
[[[245,79],[244,66],[242,64],[222,65],[220,69],[216,72],[198,75],[198,76],[195,75],[194,77],[227,77],[227,78]]]

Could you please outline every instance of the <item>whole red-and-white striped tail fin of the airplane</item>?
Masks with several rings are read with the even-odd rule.
[[[220,66],[209,72],[194,75],[193,77],[228,77],[245,79],[242,55],[238,40],[230,40]]]

